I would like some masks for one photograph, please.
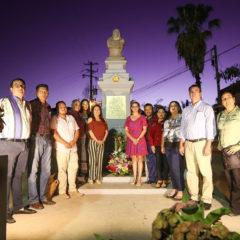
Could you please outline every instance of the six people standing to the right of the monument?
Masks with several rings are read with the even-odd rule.
[[[139,103],[131,103],[131,115],[124,125],[126,154],[133,162],[131,184],[141,186],[146,156],[147,183],[165,188],[170,172],[172,190],[168,198],[182,200],[186,185],[191,200],[196,203],[201,200],[205,210],[209,210],[213,198],[212,142],[218,133],[230,189],[231,215],[240,215],[240,109],[233,94],[224,92],[221,100],[225,109],[218,114],[216,122],[213,108],[202,101],[200,86],[190,86],[189,96],[190,106],[182,111],[180,104],[172,101],[168,114],[164,107],[159,107],[154,114],[153,106],[147,103],[143,116]]]

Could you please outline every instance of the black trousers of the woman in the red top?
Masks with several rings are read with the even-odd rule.
[[[162,154],[161,147],[155,147],[156,165],[157,165],[157,179],[158,180],[168,180],[168,163],[166,155]]]

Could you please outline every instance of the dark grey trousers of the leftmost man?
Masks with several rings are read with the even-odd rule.
[[[8,175],[7,175],[7,212],[9,210],[9,194],[12,190],[13,210],[19,210],[22,204],[22,176],[25,173],[28,146],[25,142],[11,142],[0,140],[0,153],[8,155]]]

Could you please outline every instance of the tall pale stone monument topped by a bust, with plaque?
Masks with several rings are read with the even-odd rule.
[[[122,56],[125,41],[120,31],[115,29],[107,40],[109,57],[105,60],[106,71],[99,79],[98,86],[102,93],[102,109],[108,127],[123,132],[123,125],[130,115],[130,93],[134,81],[126,72],[127,61]]]

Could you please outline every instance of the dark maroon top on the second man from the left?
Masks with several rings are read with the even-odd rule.
[[[46,103],[36,98],[31,102],[32,106],[32,134],[36,133],[48,135],[50,134],[50,121],[51,121],[51,107]]]

